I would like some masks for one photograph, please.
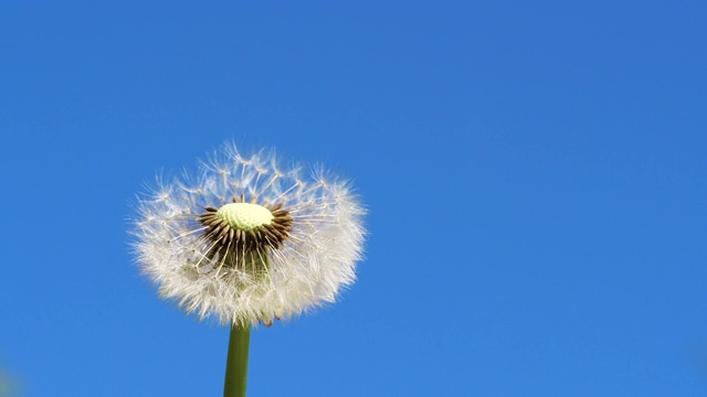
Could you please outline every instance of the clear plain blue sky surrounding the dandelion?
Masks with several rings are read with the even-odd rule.
[[[233,140],[369,211],[340,301],[253,333],[250,396],[705,396],[707,3],[0,3],[15,391],[222,394],[229,330],[127,230]]]

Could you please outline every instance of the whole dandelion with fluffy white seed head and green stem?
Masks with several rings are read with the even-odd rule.
[[[232,353],[245,350],[246,367],[251,325],[334,302],[361,258],[363,210],[349,184],[282,167],[274,151],[226,144],[196,175],[159,181],[138,213],[137,261],[160,296],[232,326],[225,395]],[[244,393],[245,373],[234,376]]]

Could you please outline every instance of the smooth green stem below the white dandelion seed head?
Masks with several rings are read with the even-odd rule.
[[[251,326],[231,326],[229,357],[225,363],[223,397],[245,397],[247,382],[247,351],[251,343]]]

